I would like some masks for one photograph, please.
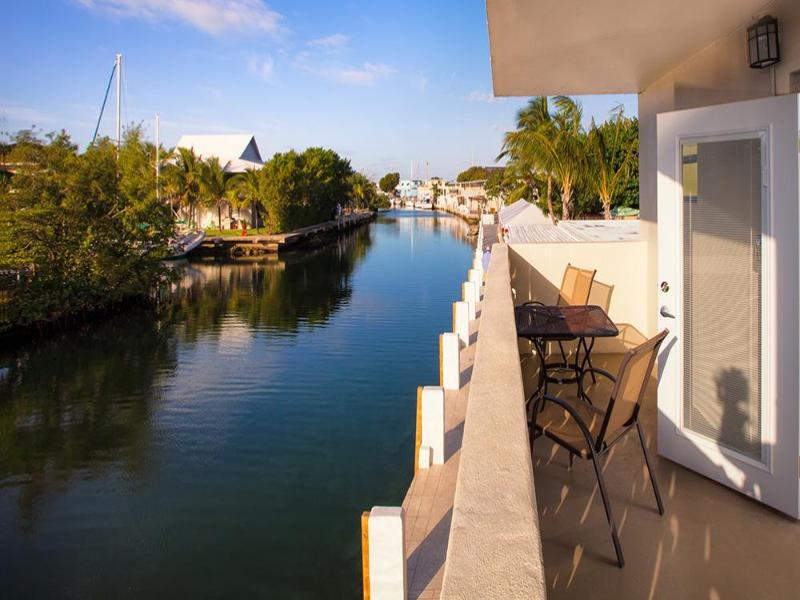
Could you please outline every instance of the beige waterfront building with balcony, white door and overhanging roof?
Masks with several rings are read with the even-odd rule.
[[[402,522],[408,597],[795,597],[800,3],[486,7],[496,96],[638,94],[640,219],[493,244],[484,225],[477,318],[460,354],[440,346],[464,374],[445,390],[448,454],[423,456],[404,510],[370,514],[368,531],[373,516]],[[619,330],[595,344],[596,367],[616,372],[667,330],[642,390],[641,446],[616,445],[596,471],[544,438],[531,454],[523,408],[538,363],[514,309],[556,304],[570,263],[593,272],[587,303]]]

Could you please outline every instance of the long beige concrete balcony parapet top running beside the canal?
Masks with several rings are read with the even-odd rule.
[[[494,244],[453,502],[441,598],[545,597],[509,251]]]

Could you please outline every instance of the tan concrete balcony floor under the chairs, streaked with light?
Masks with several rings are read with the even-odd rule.
[[[615,373],[619,356],[595,355],[593,362]],[[568,395],[574,385],[551,386],[550,391]],[[616,566],[591,463],[576,459],[570,470],[566,451],[543,437],[535,441],[548,597],[797,598],[800,522],[658,457],[656,409],[653,380],[641,420],[665,514],[659,516],[656,509],[635,432],[620,441],[603,466],[624,569]]]

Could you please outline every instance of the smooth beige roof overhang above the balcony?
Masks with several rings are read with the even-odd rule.
[[[637,93],[772,4],[486,0],[494,94]]]

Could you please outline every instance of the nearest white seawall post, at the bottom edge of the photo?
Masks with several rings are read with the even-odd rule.
[[[399,506],[375,506],[369,513],[371,600],[406,600],[405,514]]]

